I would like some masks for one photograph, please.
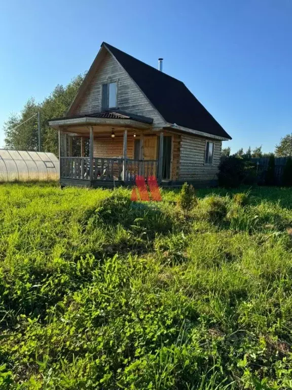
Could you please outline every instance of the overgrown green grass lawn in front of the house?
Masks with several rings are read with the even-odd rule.
[[[1,185],[0,389],[292,388],[292,189],[233,193]]]

